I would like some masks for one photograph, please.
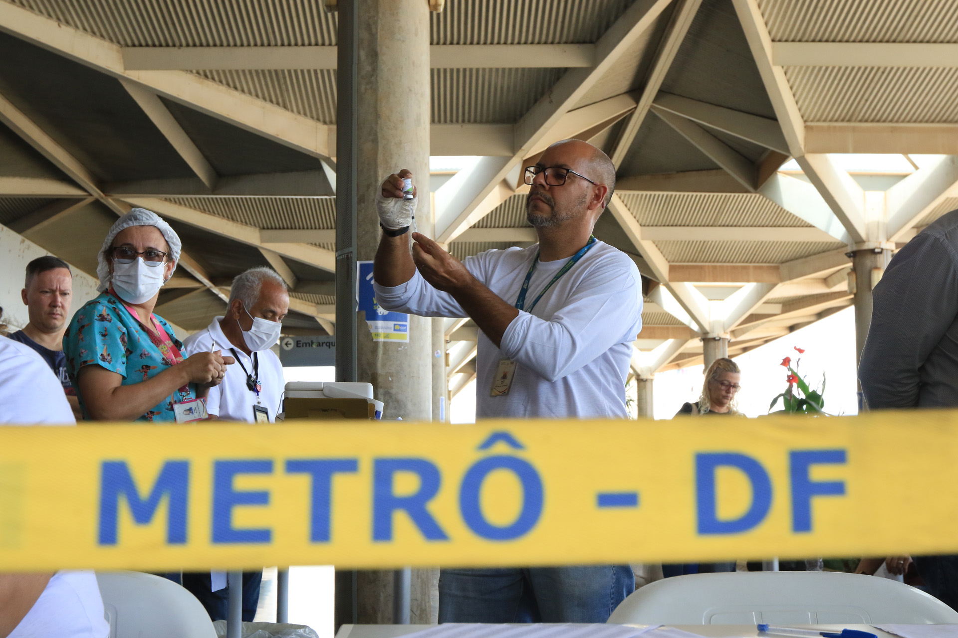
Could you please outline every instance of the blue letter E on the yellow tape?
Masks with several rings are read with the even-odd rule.
[[[237,474],[271,474],[273,462],[266,459],[219,460],[213,462],[213,542],[266,543],[273,538],[266,528],[233,527],[233,508],[239,505],[268,505],[268,492],[237,492]]]

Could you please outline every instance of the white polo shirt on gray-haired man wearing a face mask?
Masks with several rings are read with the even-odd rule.
[[[262,385],[258,403],[256,393],[246,386],[246,373],[253,374],[253,360],[226,338],[219,327],[221,319],[223,318],[214,318],[205,329],[183,341],[184,347],[191,355],[196,352],[222,350],[224,357],[234,357],[237,360],[237,363],[226,366],[223,382],[210,388],[210,394],[206,398],[206,411],[220,419],[253,423],[253,406],[259,405],[266,408],[272,423],[276,420],[276,413],[283,399],[283,364],[272,350],[254,353],[260,362],[259,380]],[[217,342],[216,348],[213,347],[213,341]],[[246,372],[243,372],[239,363],[246,367]]]

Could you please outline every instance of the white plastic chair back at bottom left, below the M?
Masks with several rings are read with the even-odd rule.
[[[110,638],[217,638],[196,597],[165,578],[97,572]]]

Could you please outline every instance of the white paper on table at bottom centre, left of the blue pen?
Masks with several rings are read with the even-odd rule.
[[[660,626],[590,625],[578,623],[487,625],[480,623],[445,623],[405,634],[406,638],[633,638],[654,635],[656,638],[683,638],[686,633],[657,633]],[[700,638],[696,636],[695,638]]]

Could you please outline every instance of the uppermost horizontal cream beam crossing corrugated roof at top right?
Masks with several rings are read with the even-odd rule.
[[[958,67],[958,44],[918,42],[773,42],[777,66]]]

